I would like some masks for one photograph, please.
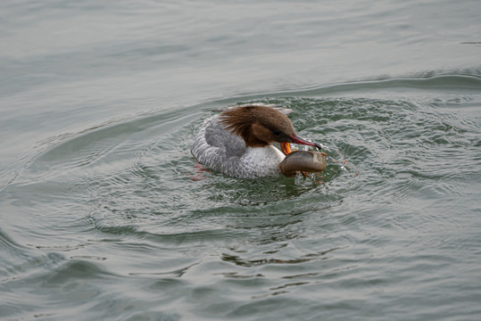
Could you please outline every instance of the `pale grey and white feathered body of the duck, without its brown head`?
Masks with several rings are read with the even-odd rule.
[[[244,139],[230,134],[219,120],[219,115],[207,119],[195,136],[192,153],[197,161],[230,177],[282,175],[278,165],[286,156],[278,148],[245,146]]]

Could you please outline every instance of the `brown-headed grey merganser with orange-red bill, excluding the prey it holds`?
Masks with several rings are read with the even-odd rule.
[[[271,143],[281,144],[283,152]],[[279,163],[290,143],[322,148],[297,136],[285,114],[267,105],[241,105],[205,120],[192,146],[204,166],[230,177],[282,175]]]

